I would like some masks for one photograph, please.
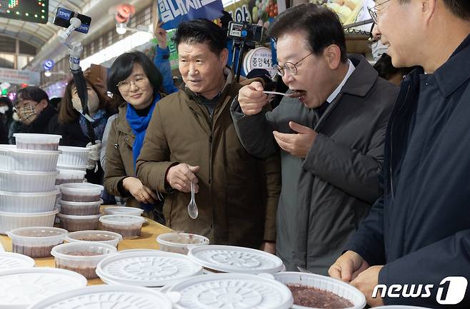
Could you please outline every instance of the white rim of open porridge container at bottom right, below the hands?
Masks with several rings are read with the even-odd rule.
[[[346,298],[353,303],[354,307],[348,309],[362,309],[366,306],[366,298],[360,290],[354,286],[344,283],[341,280],[326,277],[324,275],[316,275],[314,273],[297,273],[284,272],[273,273],[274,279],[284,284],[306,285],[319,290],[326,290]],[[293,305],[293,309],[307,308],[301,305]],[[315,308],[316,309],[316,308]]]

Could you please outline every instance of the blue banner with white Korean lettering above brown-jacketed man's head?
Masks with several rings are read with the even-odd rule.
[[[214,20],[222,16],[221,0],[157,0],[160,21],[165,30],[176,29],[183,21],[192,19]]]

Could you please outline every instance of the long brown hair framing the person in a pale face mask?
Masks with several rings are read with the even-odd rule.
[[[93,88],[93,91],[96,92],[96,95],[99,98],[98,109],[105,108],[107,113],[112,113],[109,99],[106,98],[104,93],[101,93],[88,78],[85,78],[85,81],[91,86],[91,88]],[[79,112],[74,109],[74,104],[72,103],[72,88],[74,88],[74,86],[75,81],[72,78],[69,83],[67,83],[64,96],[62,96],[59,104],[59,116],[57,116],[57,120],[62,126],[79,118]]]

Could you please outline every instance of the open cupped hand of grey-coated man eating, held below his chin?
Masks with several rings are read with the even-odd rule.
[[[293,121],[289,122],[289,126],[292,130],[297,133],[279,133],[274,131],[274,138],[284,151],[287,151],[292,156],[297,156],[299,158],[305,158],[311,146],[314,144],[316,133],[309,127],[301,126],[299,123]]]

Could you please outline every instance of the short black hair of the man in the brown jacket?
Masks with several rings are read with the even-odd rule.
[[[208,19],[194,19],[179,24],[173,40],[176,48],[180,43],[207,44],[216,55],[226,48],[226,32]]]

